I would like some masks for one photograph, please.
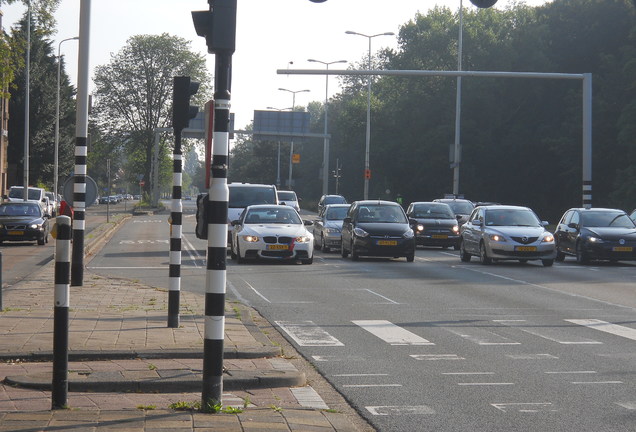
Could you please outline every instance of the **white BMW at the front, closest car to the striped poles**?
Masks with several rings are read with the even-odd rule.
[[[248,206],[240,219],[232,221],[230,256],[243,263],[248,259],[298,260],[311,264],[314,237],[289,206],[266,204]]]

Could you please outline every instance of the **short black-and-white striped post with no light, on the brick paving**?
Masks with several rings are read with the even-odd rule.
[[[71,218],[56,218],[55,307],[53,310],[53,381],[51,409],[64,409],[68,399],[68,308],[70,302]]]

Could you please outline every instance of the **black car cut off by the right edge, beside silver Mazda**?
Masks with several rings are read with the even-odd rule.
[[[590,260],[636,259],[636,224],[623,210],[573,208],[554,232],[557,261],[566,255],[585,264]]]

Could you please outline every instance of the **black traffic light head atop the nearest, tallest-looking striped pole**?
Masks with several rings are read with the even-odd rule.
[[[233,53],[236,46],[236,0],[208,0],[209,11],[192,11],[197,35],[209,53]]]

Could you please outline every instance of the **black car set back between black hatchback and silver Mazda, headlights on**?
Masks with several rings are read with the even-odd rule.
[[[406,215],[416,222],[411,227],[418,245],[459,249],[459,223],[448,204],[412,202]]]

